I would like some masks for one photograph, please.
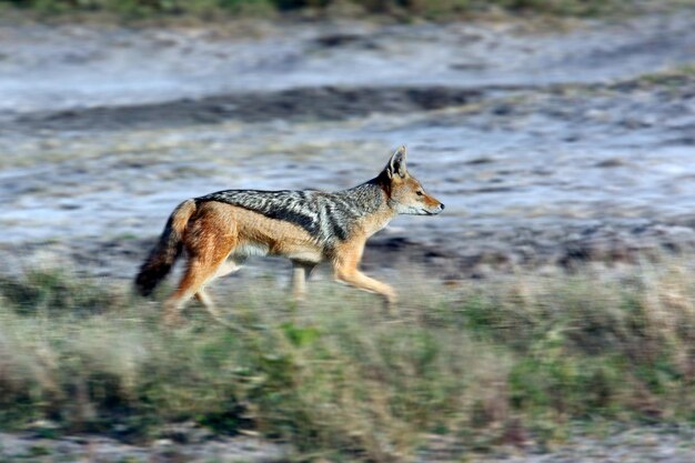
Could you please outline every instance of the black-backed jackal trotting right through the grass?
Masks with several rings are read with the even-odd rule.
[[[187,200],[169,218],[135,285],[150,294],[185,250],[187,268],[164,302],[164,322],[178,322],[191,296],[220,320],[205,285],[239,270],[248,256],[284,255],[293,263],[296,298],[312,269],[328,261],[336,280],[381,294],[391,309],[393,288],[359,270],[366,240],[397,214],[435,215],[444,209],[407,172],[405,155],[405,147],[399,148],[376,178],[333,193],[226,190]]]

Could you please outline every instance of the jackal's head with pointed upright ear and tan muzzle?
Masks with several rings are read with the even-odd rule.
[[[417,179],[407,172],[405,155],[405,147],[399,148],[380,175],[385,183],[389,204],[399,214],[439,214],[444,210],[444,204],[427,194]]]

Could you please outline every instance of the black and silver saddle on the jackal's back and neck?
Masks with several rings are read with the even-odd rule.
[[[375,180],[326,193],[315,190],[225,190],[197,198],[218,201],[282,220],[305,230],[323,248],[334,248],[357,230],[367,236],[381,230],[393,213]]]

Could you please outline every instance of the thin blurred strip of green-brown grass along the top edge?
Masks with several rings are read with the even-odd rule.
[[[673,1],[673,0],[669,0]],[[2,3],[2,1],[0,1]],[[597,16],[629,12],[656,0],[4,0],[43,14],[105,11],[124,18],[152,16],[272,16],[309,10],[389,14],[401,18],[452,19],[490,11],[547,16]]]

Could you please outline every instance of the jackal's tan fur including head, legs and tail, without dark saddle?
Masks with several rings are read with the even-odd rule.
[[[153,288],[148,284],[165,275],[183,248],[188,255],[187,266],[178,289],[164,302],[164,322],[177,323],[183,304],[194,296],[215,320],[226,324],[214,309],[205,285],[239,270],[248,255],[282,255],[292,260],[292,291],[296,299],[304,295],[305,280],[313,268],[328,260],[335,280],[380,294],[391,310],[396,302],[393,288],[360,271],[366,241],[399,213],[433,215],[444,205],[426,194],[420,182],[407,173],[404,147],[370,184],[373,185],[370,191],[374,191],[372,199],[377,199],[379,205],[351,219],[349,236],[330,246],[322,245],[316,236],[300,227],[301,223],[271,219],[223,201],[185,201],[171,215],[160,243],[143,264],[137,284],[147,293]],[[159,265],[161,260],[165,261],[164,266]],[[165,271],[159,271],[160,268]],[[141,282],[144,283],[141,285]]]

